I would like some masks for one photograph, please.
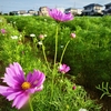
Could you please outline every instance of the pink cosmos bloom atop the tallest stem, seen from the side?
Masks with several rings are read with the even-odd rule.
[[[63,13],[57,9],[49,9],[49,16],[53,18],[56,21],[73,20],[73,16],[71,13]]]

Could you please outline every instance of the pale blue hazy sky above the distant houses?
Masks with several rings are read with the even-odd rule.
[[[111,0],[0,0],[0,11],[3,13],[19,10],[39,10],[40,7],[49,8],[80,8],[90,3],[107,4]]]

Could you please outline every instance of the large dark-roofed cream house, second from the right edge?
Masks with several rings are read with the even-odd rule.
[[[103,12],[102,12],[103,6],[101,6],[101,4],[91,3],[91,4],[88,4],[88,6],[84,6],[83,8],[84,8],[83,11],[82,11],[83,16],[103,14]]]

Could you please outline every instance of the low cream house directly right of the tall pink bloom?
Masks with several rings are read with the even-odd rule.
[[[80,16],[82,13],[82,9],[77,9],[77,8],[68,8],[64,10],[64,13],[71,12],[73,16]]]

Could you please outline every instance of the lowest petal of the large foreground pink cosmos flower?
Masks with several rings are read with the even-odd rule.
[[[13,100],[12,107],[16,105],[16,108],[20,109],[26,104],[28,100],[29,100],[29,94],[21,93]]]

